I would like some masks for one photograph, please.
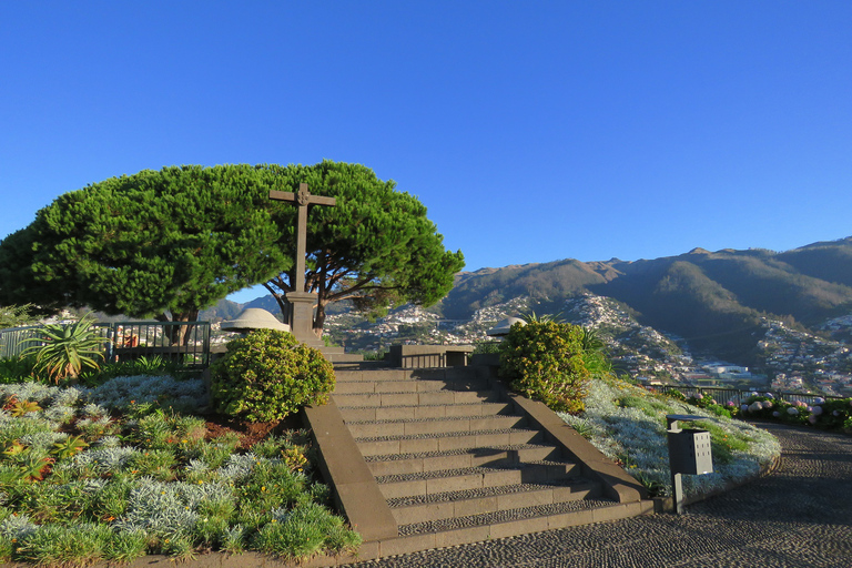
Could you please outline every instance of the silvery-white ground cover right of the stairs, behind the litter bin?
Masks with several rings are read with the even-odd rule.
[[[781,455],[778,439],[763,429],[621,381],[594,379],[586,410],[578,416],[559,416],[607,457],[621,463],[651,493],[671,495],[667,414],[707,417],[691,424],[710,430],[713,473],[683,476],[683,490],[688,496],[752,478]],[[681,426],[689,424],[681,423]]]

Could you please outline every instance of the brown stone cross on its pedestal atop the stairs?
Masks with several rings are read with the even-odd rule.
[[[328,205],[337,203],[334,197],[323,195],[311,195],[306,183],[298,184],[298,192],[270,191],[270,199],[276,201],[288,201],[298,206],[298,219],[296,221],[296,271],[293,292],[285,294],[290,302],[290,328],[293,335],[302,343],[311,347],[322,347],[323,342],[314,333],[314,305],[316,304],[316,294],[305,292],[305,255],[307,254],[307,206],[308,205]]]

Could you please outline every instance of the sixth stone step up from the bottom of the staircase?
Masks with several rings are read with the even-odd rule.
[[[520,416],[452,416],[419,420],[347,422],[356,438],[371,436],[416,436],[419,434],[454,434],[460,432],[500,430],[526,426]]]

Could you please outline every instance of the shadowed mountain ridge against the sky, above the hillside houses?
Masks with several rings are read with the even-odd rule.
[[[586,293],[623,304],[641,325],[683,337],[697,351],[750,364],[765,317],[821,333],[825,321],[852,314],[852,236],[784,252],[693,247],[650,260],[484,267],[458,273],[429,312],[463,321],[524,297],[539,314],[557,313]],[[263,301],[241,306],[276,307]]]

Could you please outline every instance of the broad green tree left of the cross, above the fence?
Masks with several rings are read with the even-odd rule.
[[[60,195],[0,243],[0,304],[194,321],[292,261],[267,207],[275,183],[251,165],[172,166]]]

